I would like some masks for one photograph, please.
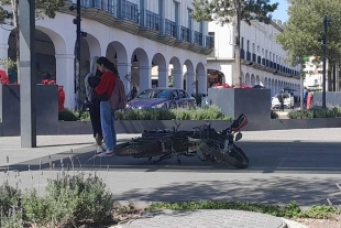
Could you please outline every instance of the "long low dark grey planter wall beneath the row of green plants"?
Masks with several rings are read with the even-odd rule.
[[[182,123],[179,130],[193,130],[194,127],[206,123],[204,120],[177,120]],[[223,130],[230,126],[227,120],[211,120],[216,130]],[[173,120],[121,120],[116,121],[117,133],[142,133],[144,130],[172,129],[175,127]],[[341,128],[341,118],[320,118],[320,119],[272,119],[268,128],[260,128],[256,124],[248,124],[242,131],[260,130],[290,130],[290,129],[317,129],[317,128]],[[3,132],[3,133],[2,133]],[[47,133],[46,133],[47,132]],[[6,129],[0,123],[0,135],[8,135]],[[56,121],[56,124],[50,124],[44,133],[40,135],[67,135],[67,134],[92,134],[91,122],[89,121]],[[14,135],[20,135],[20,132]]]

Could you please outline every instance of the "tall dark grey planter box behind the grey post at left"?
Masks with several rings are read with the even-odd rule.
[[[20,135],[20,86],[1,85],[2,135]],[[37,134],[58,133],[58,86],[36,85]]]

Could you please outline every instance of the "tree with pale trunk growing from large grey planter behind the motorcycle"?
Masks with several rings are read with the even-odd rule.
[[[216,21],[223,25],[224,23],[232,23],[233,35],[235,36],[235,68],[232,82],[239,82],[242,86],[242,70],[241,70],[241,21],[251,25],[251,21],[260,21],[270,23],[272,15],[278,3],[268,3],[270,0],[194,0],[194,12],[191,17],[197,21]]]

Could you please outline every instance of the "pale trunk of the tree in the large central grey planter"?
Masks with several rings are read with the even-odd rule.
[[[242,61],[241,61],[241,4],[237,2],[237,17],[235,17],[235,25],[233,26],[234,36],[235,36],[235,46],[234,46],[234,59],[235,59],[235,70],[232,76],[232,85],[238,82],[239,88],[242,87]]]

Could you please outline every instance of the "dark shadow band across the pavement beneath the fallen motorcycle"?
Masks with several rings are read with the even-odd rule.
[[[134,159],[129,156],[112,156],[95,159],[85,164],[95,154],[95,145],[81,149],[65,151],[54,154],[52,163],[58,169],[72,166],[70,156],[74,160],[74,166],[84,170],[122,170],[122,171],[188,171],[188,172],[238,172],[238,173],[341,173],[341,143],[322,142],[239,142],[238,145],[243,149],[250,159],[250,166],[245,170],[237,170],[227,164],[212,162],[201,162],[197,158],[182,156],[182,164],[178,165],[176,158],[153,163],[147,159]],[[156,158],[155,158],[156,160]],[[10,165],[11,170],[28,171],[38,170],[42,162],[42,169],[50,167],[48,156],[29,160],[18,164]],[[1,169],[1,167],[0,167]],[[7,167],[2,167],[7,169]]]

